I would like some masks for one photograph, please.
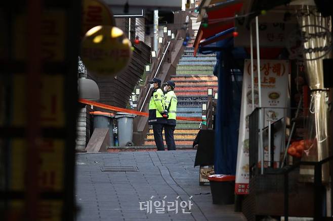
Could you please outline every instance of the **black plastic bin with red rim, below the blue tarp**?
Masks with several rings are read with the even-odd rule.
[[[211,185],[213,204],[235,202],[235,176],[215,174],[208,177]]]

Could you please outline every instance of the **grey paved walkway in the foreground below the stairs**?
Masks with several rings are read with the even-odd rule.
[[[241,213],[233,212],[233,205],[213,204],[210,186],[199,186],[199,168],[193,167],[195,152],[78,153],[77,220],[246,220]],[[102,172],[101,166],[133,166],[138,171]],[[151,213],[140,210],[140,202],[143,209],[147,201],[152,202]],[[156,213],[163,212],[162,201],[165,211]],[[190,210],[189,203],[193,204]],[[178,213],[168,211],[168,205],[175,209],[176,204]],[[181,206],[187,206],[184,212],[191,213],[184,213]]]

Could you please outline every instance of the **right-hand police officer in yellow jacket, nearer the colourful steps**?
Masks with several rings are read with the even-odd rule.
[[[166,145],[168,145],[168,150],[176,150],[176,144],[174,140],[174,131],[176,127],[176,112],[177,112],[177,96],[174,92],[175,82],[166,81],[164,86],[164,99],[165,99],[165,109],[168,111],[169,118],[164,125],[164,134]]]

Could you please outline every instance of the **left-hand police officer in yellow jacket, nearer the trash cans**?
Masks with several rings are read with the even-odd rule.
[[[153,91],[149,101],[148,124],[153,126],[154,140],[157,150],[164,150],[163,144],[163,125],[168,118],[168,112],[164,108],[164,93],[161,87],[161,80],[153,78],[149,83],[153,84]]]

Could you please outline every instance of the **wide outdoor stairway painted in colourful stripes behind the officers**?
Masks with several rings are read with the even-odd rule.
[[[193,53],[193,47],[187,47],[184,50],[176,75],[171,76],[171,80],[176,83],[177,116],[179,117],[201,118],[202,103],[207,102],[207,89],[213,88],[213,94],[218,91],[218,80],[213,75],[216,55],[198,54],[197,57],[193,57]],[[199,127],[200,122],[197,121],[177,121],[174,133],[176,148],[191,149]],[[166,148],[165,139],[164,145]],[[152,128],[147,133],[144,146],[156,148]]]

